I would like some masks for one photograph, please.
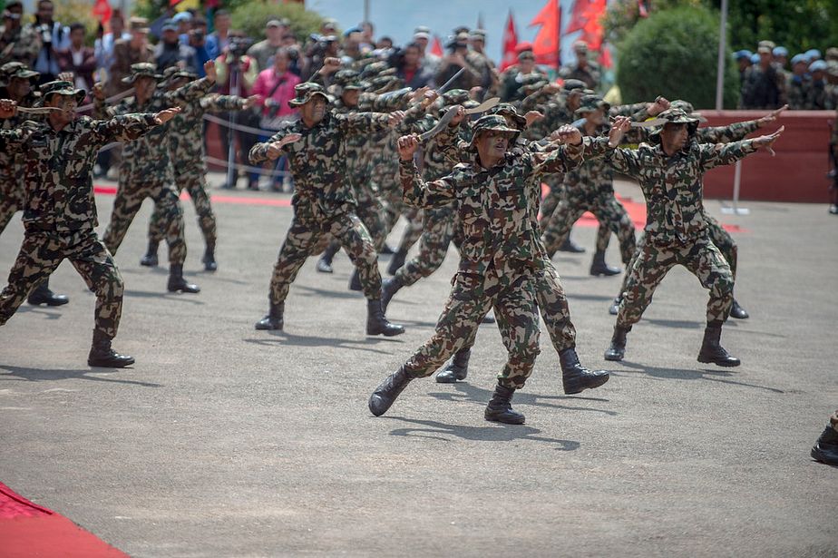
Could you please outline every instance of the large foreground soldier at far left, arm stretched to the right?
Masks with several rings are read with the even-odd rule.
[[[15,314],[26,296],[63,261],[73,267],[96,294],[93,346],[88,364],[126,367],[132,357],[111,348],[122,314],[122,277],[111,253],[96,236],[99,224],[93,199],[91,171],[96,155],[109,142],[132,141],[167,122],[178,109],[151,114],[116,116],[107,121],[76,118],[84,91],[70,82],[45,83],[43,104],[54,112],[44,122],[25,122],[0,133],[4,152],[24,153],[27,184],[24,242],[0,292],[0,326]],[[0,116],[15,114],[14,102],[5,101]]]

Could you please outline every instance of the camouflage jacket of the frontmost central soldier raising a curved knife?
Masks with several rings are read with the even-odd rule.
[[[493,266],[498,274],[508,274],[543,266],[539,231],[531,220],[531,204],[541,195],[535,179],[568,171],[581,160],[581,146],[550,153],[513,149],[501,163],[484,169],[472,152],[468,162],[440,180],[422,180],[413,161],[399,163],[399,178],[409,205],[434,208],[456,202],[463,232],[460,271],[485,274]]]

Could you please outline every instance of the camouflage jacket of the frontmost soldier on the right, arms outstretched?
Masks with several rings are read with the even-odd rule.
[[[638,150],[608,148],[608,138],[597,138],[592,153],[604,152],[615,171],[638,181],[646,198],[646,238],[658,245],[686,245],[706,235],[703,181],[706,171],[734,163],[753,153],[752,140],[731,143],[691,141],[671,157],[660,145]]]

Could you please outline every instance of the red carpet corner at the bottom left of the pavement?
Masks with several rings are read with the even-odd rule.
[[[0,556],[124,558],[127,554],[0,483]]]

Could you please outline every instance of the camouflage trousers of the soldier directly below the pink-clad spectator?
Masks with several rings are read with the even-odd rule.
[[[367,299],[381,299],[381,274],[378,272],[378,256],[373,240],[355,213],[343,213],[329,217],[319,226],[303,225],[296,216],[291,221],[270,279],[269,296],[272,304],[279,304],[287,298],[288,289],[297,279],[297,273],[308,256],[322,250],[321,240],[324,235],[334,237],[346,250],[349,259],[358,269],[364,296]]]

